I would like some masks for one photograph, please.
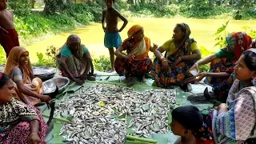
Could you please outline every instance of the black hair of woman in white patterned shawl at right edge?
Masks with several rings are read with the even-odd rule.
[[[248,69],[250,71],[255,71],[256,70],[256,54],[250,50],[246,50],[242,54],[244,56],[244,61]]]

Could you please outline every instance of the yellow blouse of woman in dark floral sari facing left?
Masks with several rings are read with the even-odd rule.
[[[162,45],[162,49],[166,50],[169,55],[172,54],[176,50],[174,39],[170,39],[167,42],[165,42]],[[192,42],[191,43],[190,50],[191,50],[191,52],[194,51],[194,50],[198,50],[197,42]]]

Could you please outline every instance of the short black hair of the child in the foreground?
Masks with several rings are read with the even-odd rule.
[[[179,106],[171,112],[171,115],[186,130],[195,132],[202,126],[202,113],[195,106]]]

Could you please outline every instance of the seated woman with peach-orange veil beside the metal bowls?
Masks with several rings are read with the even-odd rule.
[[[48,95],[42,95],[42,80],[34,78],[29,52],[25,48],[17,46],[10,50],[4,73],[16,83],[18,97],[15,98],[18,100],[32,105],[51,100]]]

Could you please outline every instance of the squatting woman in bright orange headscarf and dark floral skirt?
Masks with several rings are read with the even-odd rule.
[[[142,81],[152,67],[149,51],[154,51],[157,45],[150,46],[150,38],[144,36],[142,26],[134,25],[128,30],[128,38],[114,52],[117,58],[114,69],[120,76],[126,76],[127,86],[133,86],[137,79]],[[127,54],[122,54],[126,50]]]

